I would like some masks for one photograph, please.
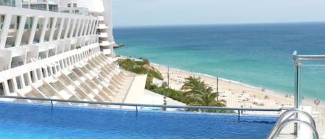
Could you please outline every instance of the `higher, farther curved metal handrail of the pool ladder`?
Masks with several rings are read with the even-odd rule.
[[[286,120],[288,120],[289,118],[291,118],[292,115],[295,114],[295,113],[300,113],[300,114],[302,114],[302,115],[305,115],[305,116],[308,118],[308,120],[310,120],[310,126],[315,127],[315,129],[316,129],[316,123],[315,123],[315,120],[312,118],[312,116],[311,116],[309,113],[307,113],[306,111],[299,110],[299,109],[290,109],[290,110],[288,110],[288,111],[283,112],[283,113],[280,115],[279,119],[278,119],[278,120],[276,121],[276,123],[274,124],[272,130],[271,130],[270,133],[267,135],[267,139],[274,138],[274,133],[276,133],[276,131],[279,130],[279,125],[282,124],[283,122],[285,122]],[[291,115],[289,115],[289,114],[291,114]],[[286,120],[282,121],[283,118],[285,118],[286,115],[289,115],[288,118],[286,118]],[[308,123],[308,124],[309,124],[309,123]],[[275,136],[275,137],[276,137],[276,136]]]

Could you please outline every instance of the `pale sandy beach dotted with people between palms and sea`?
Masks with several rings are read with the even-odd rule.
[[[164,81],[167,82],[168,69],[166,66],[159,64],[151,64],[154,66],[164,77]],[[190,71],[183,71],[176,68],[169,68],[170,73],[170,88],[180,90],[185,82],[185,78],[189,76],[200,77],[205,83],[209,84],[216,91],[217,79],[210,75],[204,75],[200,73],[193,73]],[[227,100],[228,107],[244,107],[244,108],[267,108],[277,109],[281,106],[293,107],[294,96],[285,93],[279,93],[264,89],[263,87],[249,86],[241,82],[226,80],[218,78],[218,91],[220,92],[220,99]],[[305,106],[311,106],[312,111],[318,111],[318,113],[325,112],[324,104],[319,104],[316,108],[313,104],[313,100],[303,100]],[[273,113],[274,112],[258,112],[252,113]],[[317,113],[317,112],[316,112]]]

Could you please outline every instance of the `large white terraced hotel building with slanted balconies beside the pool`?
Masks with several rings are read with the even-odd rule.
[[[139,102],[146,75],[118,67],[111,1],[96,2],[103,11],[86,0],[0,0],[0,95]]]

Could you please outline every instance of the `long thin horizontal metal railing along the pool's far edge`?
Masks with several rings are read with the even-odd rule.
[[[220,106],[177,106],[177,105],[158,105],[158,104],[134,104],[134,103],[119,103],[119,102],[91,102],[91,101],[80,101],[80,100],[60,100],[51,98],[29,98],[29,97],[16,97],[8,95],[0,95],[0,98],[12,98],[21,100],[40,100],[49,101],[53,106],[53,102],[71,102],[71,103],[82,103],[82,104],[105,104],[105,105],[117,105],[117,106],[135,106],[138,111],[138,106],[151,106],[151,107],[161,107],[161,108],[177,108],[177,109],[210,109],[210,110],[232,110],[238,111],[238,116],[240,116],[239,111],[282,111],[291,108],[282,107],[279,109],[252,109],[252,108],[236,108],[236,107],[220,107]]]

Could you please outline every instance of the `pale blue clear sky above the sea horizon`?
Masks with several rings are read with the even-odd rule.
[[[112,0],[114,26],[325,21],[325,0]]]

